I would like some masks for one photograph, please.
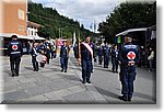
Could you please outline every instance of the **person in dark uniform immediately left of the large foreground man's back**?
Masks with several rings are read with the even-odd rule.
[[[118,74],[118,48],[117,48],[117,45],[114,45],[112,48],[112,64],[113,64],[113,72]]]

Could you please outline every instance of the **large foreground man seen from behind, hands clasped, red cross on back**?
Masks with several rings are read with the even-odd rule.
[[[125,36],[125,44],[119,49],[121,94],[120,100],[131,101],[133,81],[136,79],[136,65],[139,63],[139,49],[131,43],[130,35]]]

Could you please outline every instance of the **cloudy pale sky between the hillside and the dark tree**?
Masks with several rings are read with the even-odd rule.
[[[94,21],[96,25],[105,21],[106,16],[120,3],[120,0],[33,0],[44,7],[55,8],[70,19],[78,20],[85,29],[91,30]],[[93,27],[93,26],[92,26]],[[97,26],[96,26],[97,27]],[[93,29],[92,29],[93,31]]]

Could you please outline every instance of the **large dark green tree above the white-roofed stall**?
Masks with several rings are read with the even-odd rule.
[[[128,29],[156,25],[156,2],[122,2],[99,23],[98,31],[107,42]]]

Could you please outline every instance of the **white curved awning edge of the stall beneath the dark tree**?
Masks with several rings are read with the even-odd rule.
[[[128,34],[128,33],[130,33],[130,32],[139,32],[139,31],[147,31],[147,30],[148,30],[148,27],[142,27],[142,29],[129,29],[129,30],[127,30],[127,31],[124,31],[124,32],[120,32],[120,33],[116,34],[116,36],[126,35],[126,34]]]

